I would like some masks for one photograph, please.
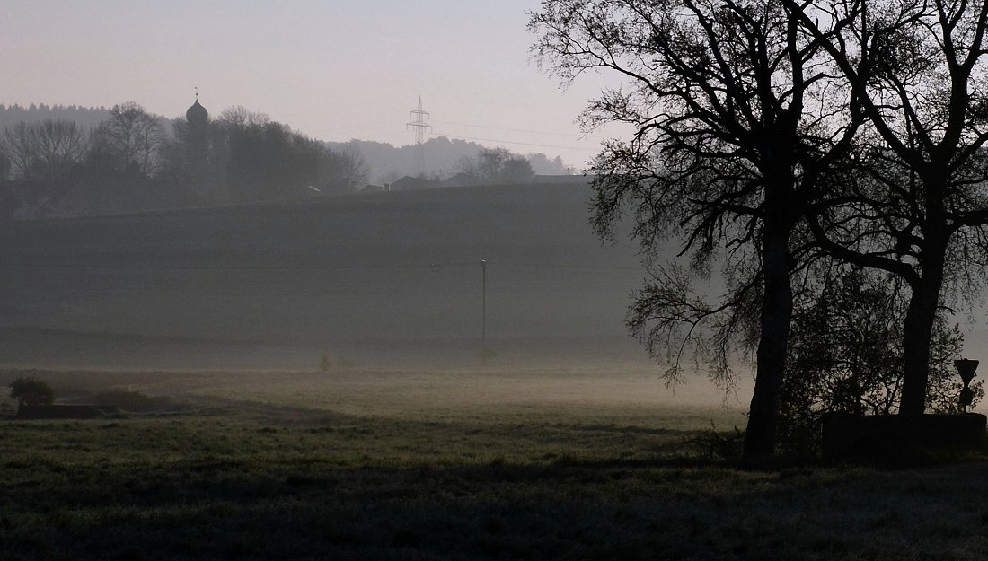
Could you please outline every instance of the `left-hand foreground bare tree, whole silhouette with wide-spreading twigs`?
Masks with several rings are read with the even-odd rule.
[[[832,24],[824,37],[843,25]],[[591,70],[626,82],[582,117],[589,128],[634,129],[594,162],[597,231],[613,235],[630,208],[646,254],[682,233],[681,255],[692,253],[703,272],[726,249],[734,281],[721,302],[688,297],[682,275],[657,275],[630,310],[632,329],[678,334],[699,352],[712,344],[723,359],[714,374],[726,376],[728,347],[745,343],[737,310],[757,302],[744,454],[774,453],[800,225],[852,147],[862,120],[855,91],[780,1],[544,0],[530,29],[535,52],[564,82]],[[718,319],[731,310],[733,319]],[[708,338],[698,336],[704,327]],[[679,371],[677,360],[669,375]]]

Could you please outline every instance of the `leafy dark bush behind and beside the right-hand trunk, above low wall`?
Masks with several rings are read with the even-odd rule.
[[[889,415],[902,396],[902,331],[908,295],[901,281],[861,267],[820,271],[797,299],[782,384],[780,438],[790,451],[818,451],[825,413]],[[926,408],[958,413],[962,384],[953,366],[963,337],[943,314],[931,342]],[[972,385],[975,402],[983,384]]]

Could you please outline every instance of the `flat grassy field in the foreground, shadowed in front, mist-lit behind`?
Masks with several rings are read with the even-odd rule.
[[[0,382],[28,374],[65,402],[161,399],[121,418],[0,422],[0,559],[988,554],[985,464],[740,469],[719,459],[744,421],[736,400],[671,397],[645,372],[11,370]]]

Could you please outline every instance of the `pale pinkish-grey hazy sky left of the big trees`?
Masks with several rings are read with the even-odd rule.
[[[242,105],[324,140],[414,142],[422,96],[435,134],[582,167],[601,135],[574,120],[608,85],[568,91],[538,70],[537,0],[4,0],[0,103],[212,115]],[[483,139],[483,140],[480,140]],[[508,143],[510,142],[510,143]]]

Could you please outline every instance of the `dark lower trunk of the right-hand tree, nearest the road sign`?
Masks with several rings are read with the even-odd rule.
[[[923,277],[912,286],[902,330],[902,401],[900,415],[923,415],[930,378],[930,343],[937,320],[937,305],[944,285],[944,252],[925,252]],[[939,259],[938,259],[939,258]]]

